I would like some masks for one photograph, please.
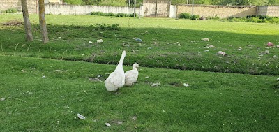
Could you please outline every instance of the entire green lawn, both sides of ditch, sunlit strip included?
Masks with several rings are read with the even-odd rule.
[[[279,48],[266,48],[279,45],[278,24],[46,15],[43,45],[30,19],[32,43],[0,24],[1,131],[279,131]],[[103,81],[123,50],[124,70],[137,62],[140,76],[114,94]]]

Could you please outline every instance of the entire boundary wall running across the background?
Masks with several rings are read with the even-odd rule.
[[[60,1],[60,0],[45,0]],[[158,1],[157,1],[158,2]],[[38,0],[27,0],[27,7],[30,14],[38,13]],[[15,8],[22,12],[20,0],[0,0],[0,10]],[[155,16],[156,5],[154,3],[144,3],[140,8],[136,8],[136,13],[144,17]],[[218,16],[225,17],[246,17],[247,15],[268,15],[271,17],[279,17],[279,6],[205,6],[205,5],[176,5],[169,3],[158,3],[158,17],[178,17],[180,13],[192,13],[204,17]],[[91,12],[103,13],[134,13],[133,7],[114,7],[114,6],[78,6],[78,5],[61,5],[61,4],[45,4],[46,14],[62,14],[62,15],[84,15]]]

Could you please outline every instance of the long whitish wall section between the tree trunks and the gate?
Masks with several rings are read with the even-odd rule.
[[[136,12],[140,15],[141,8],[136,8]],[[80,5],[60,5],[45,4],[45,14],[61,14],[61,15],[85,15],[91,12],[103,13],[134,13],[134,8],[130,7],[114,7],[114,6],[80,6]]]

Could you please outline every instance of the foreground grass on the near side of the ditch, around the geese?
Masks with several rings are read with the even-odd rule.
[[[114,65],[0,61],[1,131],[278,131],[273,76],[141,67],[137,84],[113,94],[100,80]]]

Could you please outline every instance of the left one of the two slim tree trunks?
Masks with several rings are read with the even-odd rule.
[[[29,13],[27,9],[27,0],[21,0],[21,2],[22,2],[22,14],[24,19],[25,39],[27,41],[33,41],[31,23],[29,21]]]

